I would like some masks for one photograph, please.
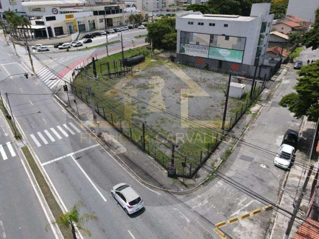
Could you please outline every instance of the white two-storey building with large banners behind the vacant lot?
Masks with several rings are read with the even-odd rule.
[[[263,64],[268,47],[274,18],[270,6],[253,4],[250,16],[177,14],[177,60],[199,68],[253,75],[255,65]]]

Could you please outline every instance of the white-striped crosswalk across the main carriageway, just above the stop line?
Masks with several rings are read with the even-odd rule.
[[[49,142],[53,143],[56,140],[62,139],[63,136],[69,137],[69,134],[74,135],[80,132],[81,130],[77,126],[75,126],[74,123],[68,122],[63,123],[62,126],[57,125],[56,127],[44,129],[43,131],[39,131],[34,134],[31,133],[30,137],[36,146],[41,147],[42,145],[49,144]]]

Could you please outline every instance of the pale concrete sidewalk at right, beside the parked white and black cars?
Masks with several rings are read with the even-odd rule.
[[[298,150],[296,152],[296,158],[298,161],[304,160],[305,167],[309,167],[308,165],[313,163],[314,161],[309,159],[310,148],[313,140],[313,135],[315,133],[316,123],[308,121],[304,119],[301,130],[300,130],[300,140],[298,143]],[[314,153],[313,153],[313,156]],[[314,157],[312,157],[314,158]],[[306,165],[308,164],[308,165]],[[291,170],[289,172],[285,189],[282,194],[282,198],[280,200],[279,206],[285,208],[289,212],[294,211],[294,200],[297,200],[304,181],[307,177],[308,170],[293,164]],[[311,185],[314,180],[314,175],[311,176],[309,183],[307,185],[307,192],[303,197],[302,203],[300,205],[300,211],[297,213],[298,217],[304,218],[307,214],[309,198],[311,193]],[[289,218],[285,217],[283,214],[278,213],[275,219],[274,227],[272,233],[270,235],[270,239],[283,239],[287,226],[288,226]],[[290,233],[289,238],[293,238],[295,233],[298,231],[301,226],[302,221],[296,219],[292,231]]]

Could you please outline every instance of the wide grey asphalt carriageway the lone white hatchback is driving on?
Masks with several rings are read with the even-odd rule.
[[[1,47],[3,52],[7,49]],[[10,59],[13,61],[15,57]],[[5,69],[0,72],[1,78],[25,70],[15,64],[6,65]],[[13,76],[2,83],[1,91],[9,93],[13,115],[65,209],[81,201],[84,205],[81,213],[98,217],[97,222],[86,224],[92,238],[216,237],[213,232],[216,222],[202,218],[176,197],[136,181],[66,114],[40,79]],[[111,188],[120,182],[133,185],[144,200],[145,210],[131,217],[125,214],[110,194]]]

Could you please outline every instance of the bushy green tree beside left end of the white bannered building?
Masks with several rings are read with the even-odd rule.
[[[176,44],[176,37],[175,39],[172,39],[171,34],[176,32],[175,17],[161,17],[159,20],[147,24],[147,28],[148,36],[146,38],[146,41],[151,43],[152,39],[152,44],[154,48],[171,50],[171,45],[173,44],[173,42],[168,43],[169,39],[174,40]],[[165,39],[165,41],[163,41],[163,39]]]

